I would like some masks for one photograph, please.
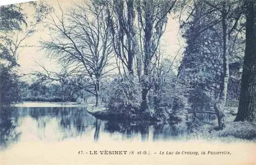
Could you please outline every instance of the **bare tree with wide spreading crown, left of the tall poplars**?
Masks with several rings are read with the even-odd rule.
[[[95,95],[98,106],[102,78],[113,70],[109,63],[113,50],[110,15],[106,14],[106,6],[97,1],[91,5],[83,1],[66,14],[59,8],[61,16],[54,13],[47,22],[56,36],[44,41],[44,48],[50,57],[61,61],[66,75],[90,79],[90,86],[84,88]]]

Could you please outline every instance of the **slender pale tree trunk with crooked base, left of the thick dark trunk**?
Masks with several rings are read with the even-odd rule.
[[[215,103],[215,112],[218,119],[219,129],[223,129],[225,127],[225,113],[224,113],[224,106],[227,100],[227,85],[228,85],[228,78],[229,78],[229,54],[228,54],[228,33],[227,33],[227,11],[226,11],[226,2],[224,0],[222,6],[222,42],[223,42],[223,74],[222,74],[222,81],[220,86],[220,100]]]

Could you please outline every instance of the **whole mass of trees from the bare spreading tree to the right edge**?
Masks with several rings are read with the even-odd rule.
[[[223,129],[224,106],[240,100],[236,120],[251,120],[255,106],[249,102],[255,101],[244,99],[253,93],[244,93],[248,85],[252,83],[249,91],[254,89],[253,80],[245,82],[245,75],[254,67],[248,62],[253,61],[248,44],[253,40],[248,31],[254,27],[251,4],[236,0],[95,0],[83,1],[68,11],[60,7],[61,16],[53,14],[45,22],[55,35],[42,45],[64,67],[60,74],[38,75],[53,80],[87,77],[88,81],[73,85],[93,94],[96,106],[101,105],[104,93],[111,113],[130,118],[182,121],[215,114]],[[178,74],[172,70],[173,61],[163,59],[160,47],[171,15],[179,21],[186,41]],[[245,61],[244,52],[249,56]],[[241,115],[247,111],[242,105],[250,109],[247,117]]]

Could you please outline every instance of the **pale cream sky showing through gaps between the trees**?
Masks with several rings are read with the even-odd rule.
[[[61,4],[62,8],[67,8],[71,7],[72,4],[79,1],[80,0],[44,0],[44,2],[50,4],[54,9],[58,9],[58,3]],[[28,20],[33,19],[34,10],[32,10],[29,5],[25,5],[24,12],[27,13]],[[20,65],[19,72],[31,73],[34,71],[42,70],[38,64],[44,66],[47,70],[50,71],[60,70],[60,65],[57,64],[56,60],[54,61],[47,58],[45,50],[42,50],[39,47],[39,41],[41,39],[46,41],[49,40],[48,29],[44,28],[42,24],[39,24],[36,29],[38,32],[30,38],[26,39],[24,42],[24,44],[33,45],[34,47],[25,47],[20,51],[18,58],[18,63]],[[179,44],[179,42],[181,44]],[[180,46],[182,45],[184,45],[184,41],[179,34],[178,22],[174,20],[172,16],[169,16],[166,30],[161,39],[161,50],[164,54],[164,57],[173,59],[176,56],[177,51],[180,49]]]

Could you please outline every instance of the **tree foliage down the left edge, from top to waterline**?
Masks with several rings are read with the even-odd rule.
[[[32,4],[36,7],[36,3]],[[32,36],[36,30],[31,21],[27,23],[27,15],[24,13],[22,4],[6,5],[0,7],[0,93],[1,106],[9,106],[20,101],[20,88],[22,82],[15,69],[19,67],[17,63],[20,48],[26,47],[23,41]],[[41,5],[41,8],[46,6]],[[43,16],[47,12],[40,13]],[[20,37],[22,36],[22,37]],[[23,87],[23,86],[22,86]]]

